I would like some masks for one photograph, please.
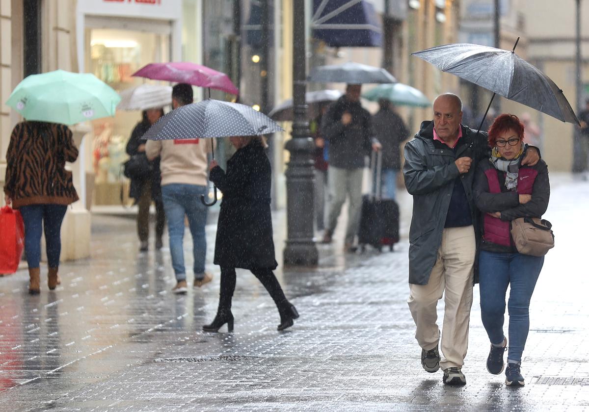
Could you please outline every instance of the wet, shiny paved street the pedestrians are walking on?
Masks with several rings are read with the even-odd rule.
[[[319,245],[318,268],[280,266],[301,314],[282,333],[272,300],[246,271],[237,278],[234,333],[201,331],[219,293],[214,225],[213,282],[177,296],[168,250],[140,254],[133,220],[94,215],[92,257],[63,264],[57,290],[47,290],[46,269],[37,296],[27,294],[26,271],[0,278],[0,410],[589,410],[589,183],[551,178],[545,218],[557,246],[532,297],[524,388],[506,388],[503,375],[485,370],[478,287],[468,384],[446,387],[441,372],[422,370],[406,304],[411,197],[402,193],[395,252],[343,255],[341,244]],[[283,212],[274,221],[282,251]]]

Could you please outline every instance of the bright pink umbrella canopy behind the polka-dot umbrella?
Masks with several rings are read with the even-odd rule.
[[[239,95],[239,89],[226,74],[190,62],[150,63],[136,71],[133,76],[188,83]]]

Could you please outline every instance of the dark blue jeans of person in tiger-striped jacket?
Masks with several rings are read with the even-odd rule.
[[[61,222],[67,206],[41,204],[21,206],[22,221],[25,224],[25,252],[29,268],[38,268],[41,261],[41,229],[45,230],[47,263],[50,268],[59,267],[61,254]]]

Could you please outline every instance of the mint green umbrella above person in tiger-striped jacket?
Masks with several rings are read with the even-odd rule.
[[[56,70],[30,75],[6,101],[27,120],[72,125],[114,116],[121,97],[90,73]]]

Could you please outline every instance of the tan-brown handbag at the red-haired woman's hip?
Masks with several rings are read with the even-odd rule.
[[[522,255],[544,256],[554,247],[552,224],[537,217],[520,217],[511,221],[511,238]]]

